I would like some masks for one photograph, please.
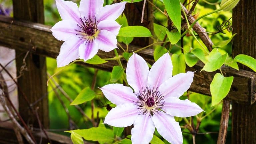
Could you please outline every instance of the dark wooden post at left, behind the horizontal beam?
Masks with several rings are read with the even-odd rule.
[[[44,23],[44,5],[43,0],[13,0],[13,15],[15,19],[26,20],[38,23]],[[36,49],[31,39],[17,37],[17,41],[30,42],[31,50]],[[16,56],[24,53],[24,51],[16,50]],[[25,54],[16,59],[17,75],[20,73],[20,68],[24,65],[23,58]],[[39,100],[37,104],[32,106],[33,109],[39,107],[38,115],[45,128],[49,126],[48,117],[48,98],[46,86],[46,61],[45,57],[29,53],[25,64],[27,71],[23,71],[23,75],[18,79],[20,90],[19,94],[19,111],[22,118],[32,124],[33,127],[39,128],[37,118],[28,109],[28,104],[24,99],[24,95],[30,104]],[[44,96],[43,99],[41,99]],[[40,100],[41,99],[41,100]]]

